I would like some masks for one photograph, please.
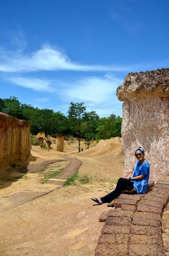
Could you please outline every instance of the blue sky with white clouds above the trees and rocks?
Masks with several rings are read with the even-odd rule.
[[[129,72],[169,67],[168,0],[0,0],[0,98],[122,116]]]

